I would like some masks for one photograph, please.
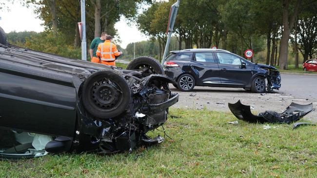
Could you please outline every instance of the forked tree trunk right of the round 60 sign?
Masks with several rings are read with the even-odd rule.
[[[280,43],[280,58],[279,69],[288,69],[288,41],[294,26],[295,18],[297,17],[301,0],[296,1],[295,10],[289,19],[289,0],[283,0],[283,33]]]

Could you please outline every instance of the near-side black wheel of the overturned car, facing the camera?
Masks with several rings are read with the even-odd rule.
[[[107,119],[119,116],[127,108],[131,91],[125,79],[115,71],[97,71],[83,85],[82,104],[93,116]]]

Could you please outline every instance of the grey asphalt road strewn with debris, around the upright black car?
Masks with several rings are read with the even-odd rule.
[[[272,110],[283,112],[292,102],[306,105],[313,103],[317,106],[317,75],[282,74],[282,87],[273,93],[252,93],[244,89],[195,87],[191,92],[182,92],[170,88],[179,93],[179,101],[173,107],[187,109],[210,109],[230,112],[228,103],[236,103],[251,106],[253,113]],[[305,116],[307,120],[317,123],[317,109]]]

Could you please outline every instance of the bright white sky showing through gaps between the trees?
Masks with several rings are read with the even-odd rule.
[[[9,12],[6,9],[0,10],[0,27],[5,33],[12,31],[42,32],[44,30],[44,27],[41,26],[42,20],[37,18],[34,13],[34,7],[27,8],[19,2],[9,3],[7,6]],[[119,45],[123,48],[126,48],[129,43],[148,39],[147,36],[139,32],[136,24],[127,25],[125,18],[120,18],[120,21],[115,24],[115,28],[117,28],[121,40]],[[87,43],[90,42],[87,41]]]

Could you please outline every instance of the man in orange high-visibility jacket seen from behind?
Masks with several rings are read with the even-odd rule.
[[[117,50],[117,46],[110,41],[111,39],[112,36],[108,35],[104,43],[98,45],[96,55],[99,57],[101,64],[116,66],[116,56],[121,55],[122,52]]]

